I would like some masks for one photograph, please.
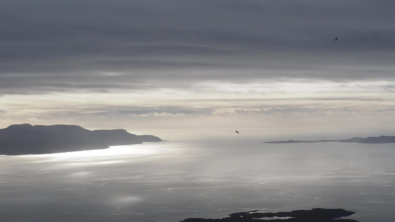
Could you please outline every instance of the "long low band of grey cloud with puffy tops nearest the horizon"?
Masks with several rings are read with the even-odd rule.
[[[277,106],[254,108],[248,107],[244,109],[234,109],[233,111],[214,112],[214,109],[195,109],[190,107],[131,107],[131,109],[118,110],[117,107],[95,108],[90,112],[88,109],[84,112],[80,111],[63,111],[48,112],[35,115],[38,119],[84,119],[84,118],[104,118],[104,119],[120,119],[130,120],[140,117],[167,117],[169,115],[175,117],[185,117],[191,115],[200,116],[268,116],[268,117],[292,117],[292,116],[337,116],[337,115],[384,115],[393,114],[393,107],[297,107],[297,106]]]

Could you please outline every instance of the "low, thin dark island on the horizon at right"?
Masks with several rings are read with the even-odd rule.
[[[380,137],[353,137],[351,139],[323,139],[315,141],[305,140],[285,140],[285,141],[270,141],[263,143],[318,143],[318,142],[342,142],[342,143],[395,143],[395,136],[382,135]]]

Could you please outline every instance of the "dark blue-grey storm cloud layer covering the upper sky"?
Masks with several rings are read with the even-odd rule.
[[[0,94],[392,79],[394,7],[367,0],[6,0]]]

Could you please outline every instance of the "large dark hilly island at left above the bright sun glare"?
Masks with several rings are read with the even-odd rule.
[[[0,155],[49,154],[107,149],[109,146],[164,141],[126,130],[87,130],[75,125],[15,124],[0,129]]]

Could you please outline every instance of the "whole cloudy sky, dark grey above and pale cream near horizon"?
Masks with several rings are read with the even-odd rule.
[[[392,0],[2,0],[0,127],[390,134],[394,7]]]

